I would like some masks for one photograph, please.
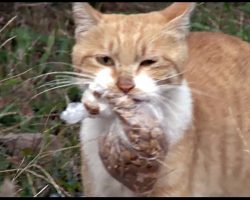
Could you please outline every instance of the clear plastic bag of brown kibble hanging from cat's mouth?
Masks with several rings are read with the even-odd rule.
[[[126,96],[109,96],[116,119],[99,140],[107,171],[138,195],[153,189],[167,153],[164,130],[154,108]]]

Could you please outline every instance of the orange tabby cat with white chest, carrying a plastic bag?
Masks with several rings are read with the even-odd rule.
[[[189,33],[194,3],[144,14],[73,6],[73,64],[91,88],[154,99],[169,142],[150,196],[250,195],[250,45],[223,33]],[[85,92],[83,101],[92,99]],[[96,138],[112,118],[82,122],[86,196],[138,196],[105,170]]]

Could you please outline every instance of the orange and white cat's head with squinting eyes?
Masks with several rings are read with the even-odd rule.
[[[182,83],[186,36],[195,3],[173,3],[141,14],[103,14],[74,3],[73,64],[94,85],[126,94]]]

